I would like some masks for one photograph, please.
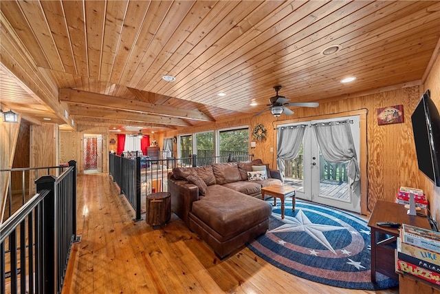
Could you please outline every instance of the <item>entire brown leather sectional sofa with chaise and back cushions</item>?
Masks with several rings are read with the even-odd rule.
[[[270,178],[248,180],[252,166],[266,166]],[[261,200],[268,185],[281,185],[280,174],[260,159],[177,167],[168,176],[171,209],[221,259],[269,228],[272,207]]]

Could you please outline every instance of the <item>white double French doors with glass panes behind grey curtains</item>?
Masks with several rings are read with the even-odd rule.
[[[304,127],[303,142],[294,159],[283,160],[285,185],[296,187],[296,197],[360,213],[360,185],[351,189],[349,162],[330,162],[322,156],[314,125],[347,122],[350,125],[356,160],[360,154],[359,116],[310,120],[289,126]]]

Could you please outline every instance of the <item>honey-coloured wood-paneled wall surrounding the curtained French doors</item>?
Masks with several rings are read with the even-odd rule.
[[[325,114],[338,114],[358,109],[366,109],[367,114],[367,169],[368,169],[368,209],[371,211],[377,200],[393,202],[400,186],[421,187],[423,178],[419,176],[417,158],[410,115],[419,101],[419,86],[397,87],[395,90],[373,94],[365,94],[353,98],[342,98],[339,101],[321,103],[320,107],[294,109],[295,114],[274,118],[270,113],[261,116],[248,116],[229,120],[224,123],[214,123],[199,127],[182,128],[177,134],[201,132],[207,129],[249,125],[250,129],[258,123],[267,128],[267,140],[256,143],[250,152],[256,158],[262,158],[272,167],[276,166],[276,136],[274,122],[288,122],[296,118],[310,118]],[[404,105],[404,123],[392,125],[377,125],[377,108],[393,105]],[[274,152],[270,152],[270,148]]]

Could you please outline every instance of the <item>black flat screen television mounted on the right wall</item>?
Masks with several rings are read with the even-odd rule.
[[[419,169],[440,187],[440,115],[430,90],[421,96],[411,120]]]

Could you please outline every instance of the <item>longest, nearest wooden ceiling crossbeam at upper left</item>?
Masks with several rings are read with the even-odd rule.
[[[181,109],[176,107],[155,105],[142,101],[133,101],[126,98],[73,90],[60,89],[60,101],[82,105],[95,105],[112,109],[127,109],[133,112],[144,112],[161,116],[173,116],[173,118],[188,118],[192,120],[213,121],[210,116],[199,110]]]

